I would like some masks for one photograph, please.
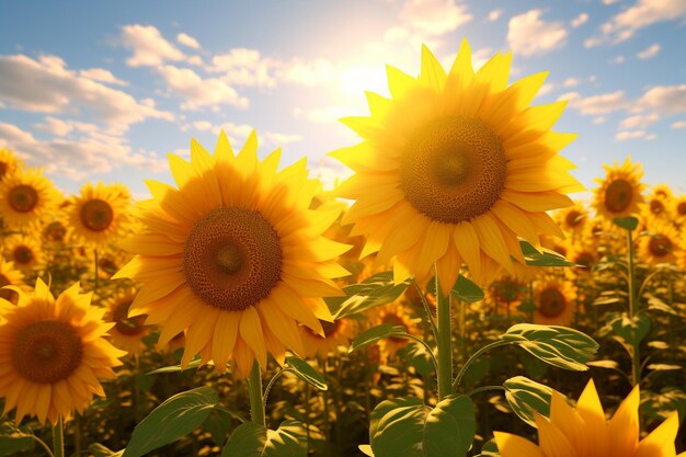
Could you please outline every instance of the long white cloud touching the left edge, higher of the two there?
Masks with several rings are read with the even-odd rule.
[[[173,121],[172,113],[69,70],[56,56],[0,56],[0,99],[30,112],[81,113],[117,132],[146,118]]]

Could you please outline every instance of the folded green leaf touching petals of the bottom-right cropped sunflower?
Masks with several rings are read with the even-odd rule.
[[[536,427],[534,411],[550,416],[552,389],[524,376],[515,376],[503,382],[510,408],[524,422]]]

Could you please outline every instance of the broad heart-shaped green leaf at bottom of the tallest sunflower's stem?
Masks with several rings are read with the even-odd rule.
[[[475,410],[466,396],[448,396],[433,409],[413,397],[386,400],[369,425],[375,457],[464,457],[475,433]]]

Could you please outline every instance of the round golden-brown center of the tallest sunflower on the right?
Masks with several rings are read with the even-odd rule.
[[[405,198],[431,219],[457,224],[487,213],[500,198],[507,161],[481,121],[445,116],[415,130],[401,157]]]

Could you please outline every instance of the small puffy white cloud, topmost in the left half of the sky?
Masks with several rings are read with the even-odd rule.
[[[156,67],[165,61],[184,59],[183,53],[152,25],[125,25],[122,27],[122,44],[134,52],[126,60],[129,67]]]

